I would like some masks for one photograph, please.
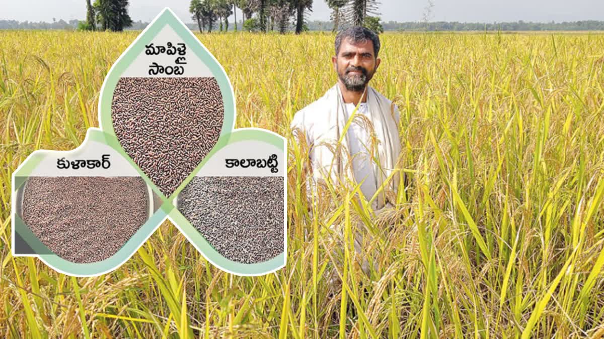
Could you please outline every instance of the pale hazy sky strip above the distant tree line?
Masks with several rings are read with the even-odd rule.
[[[129,13],[134,21],[151,21],[169,5],[184,22],[193,22],[188,13],[190,0],[130,0]],[[428,0],[379,0],[382,21],[422,21]],[[433,0],[430,21],[459,22],[562,22],[604,20],[602,0]],[[314,0],[312,20],[329,20],[325,0]],[[85,0],[0,0],[0,19],[52,22],[85,19]],[[241,12],[237,13],[237,20]],[[233,21],[231,16],[230,21]]]

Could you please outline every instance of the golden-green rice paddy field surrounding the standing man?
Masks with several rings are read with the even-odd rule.
[[[514,33],[382,35],[372,86],[400,108],[409,178],[396,209],[374,218],[335,188],[311,216],[290,140],[286,268],[223,273],[166,222],[114,273],[72,279],[11,257],[11,173],[98,126],[137,33],[0,31],[0,337],[602,336],[604,34]],[[198,37],[233,83],[236,127],[291,138],[336,80],[330,33]],[[331,224],[371,233],[370,277]]]

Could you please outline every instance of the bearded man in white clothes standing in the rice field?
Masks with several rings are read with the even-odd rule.
[[[338,82],[297,112],[291,125],[310,146],[313,184],[329,179],[345,185],[347,178],[354,178],[368,201],[390,176],[400,154],[399,110],[367,85],[381,63],[379,49],[379,37],[367,28],[341,31],[332,57]],[[384,208],[385,192],[396,189],[397,180],[388,180],[373,209]]]

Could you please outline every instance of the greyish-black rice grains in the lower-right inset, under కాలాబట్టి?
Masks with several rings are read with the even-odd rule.
[[[178,209],[214,249],[252,264],[283,252],[283,177],[195,177]]]

